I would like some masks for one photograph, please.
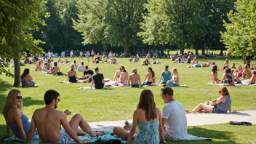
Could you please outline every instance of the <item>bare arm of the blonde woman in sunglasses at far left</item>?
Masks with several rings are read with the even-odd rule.
[[[20,132],[20,136],[23,138],[23,140],[27,140],[27,136],[25,135],[24,129],[23,129],[23,121],[20,117],[20,110],[18,108],[14,108],[13,110],[13,118],[15,120],[15,123],[17,124],[17,129]]]

